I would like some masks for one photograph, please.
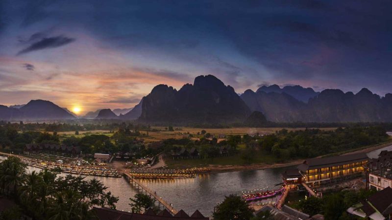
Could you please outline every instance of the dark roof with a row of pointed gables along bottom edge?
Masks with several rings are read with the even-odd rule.
[[[191,216],[180,210],[174,216],[166,209],[157,215],[151,210],[147,209],[145,213],[129,213],[109,208],[93,208],[98,220],[209,220],[196,210]]]

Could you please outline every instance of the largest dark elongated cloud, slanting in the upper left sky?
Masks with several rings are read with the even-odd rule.
[[[41,41],[33,43],[30,46],[26,47],[25,49],[19,51],[17,55],[21,55],[35,50],[55,48],[66,44],[70,44],[74,41],[75,41],[74,38],[68,38],[61,35],[57,37],[43,38]]]

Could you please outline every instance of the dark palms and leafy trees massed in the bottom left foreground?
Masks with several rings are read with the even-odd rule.
[[[115,208],[118,198],[97,179],[57,176],[47,170],[25,174],[20,159],[9,157],[0,163],[0,188],[33,219],[93,219],[93,206]]]

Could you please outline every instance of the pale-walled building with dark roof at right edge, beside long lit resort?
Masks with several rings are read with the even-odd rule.
[[[371,160],[368,186],[377,191],[392,187],[392,151],[382,151]]]

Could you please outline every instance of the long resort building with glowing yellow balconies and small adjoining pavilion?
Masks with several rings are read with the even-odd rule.
[[[295,169],[286,170],[283,173],[283,180],[290,184],[303,182],[313,186],[336,182],[361,176],[368,160],[365,153],[307,159],[297,167],[297,172]],[[300,178],[297,173],[302,177]]]

